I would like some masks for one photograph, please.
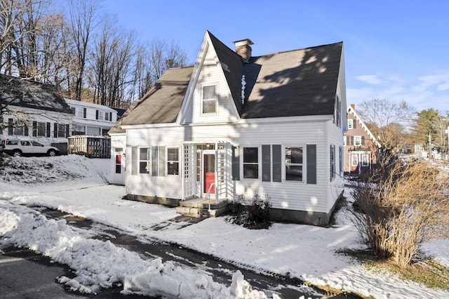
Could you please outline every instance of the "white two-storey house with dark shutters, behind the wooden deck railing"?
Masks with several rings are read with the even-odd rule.
[[[117,121],[117,112],[105,105],[65,99],[74,114],[72,135],[107,135]]]

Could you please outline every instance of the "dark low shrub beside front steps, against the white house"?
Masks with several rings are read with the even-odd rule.
[[[227,220],[251,229],[267,228],[271,225],[269,222],[271,208],[272,204],[268,195],[265,196],[265,200],[257,194],[251,200],[240,195],[239,199],[228,201],[229,216]]]

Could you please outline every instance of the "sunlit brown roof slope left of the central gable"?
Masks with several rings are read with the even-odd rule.
[[[168,69],[156,84],[121,118],[121,125],[169,124],[180,112],[193,67]]]

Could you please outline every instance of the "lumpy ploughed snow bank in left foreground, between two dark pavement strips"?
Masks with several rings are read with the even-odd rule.
[[[65,220],[48,220],[27,207],[1,202],[0,236],[2,245],[31,248],[58,263],[76,270],[76,277],[58,281],[73,291],[95,293],[100,288],[123,284],[124,292],[170,298],[267,298],[252,290],[236,272],[229,288],[198,270],[162,263],[160,258],[143,260],[110,241],[84,239]]]

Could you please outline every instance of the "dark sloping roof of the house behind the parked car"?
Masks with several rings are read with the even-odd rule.
[[[55,87],[0,74],[0,100],[8,105],[72,114]]]

